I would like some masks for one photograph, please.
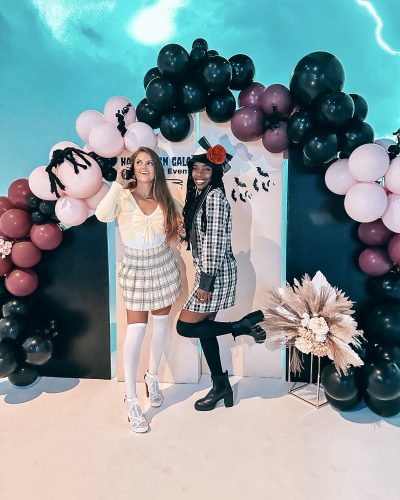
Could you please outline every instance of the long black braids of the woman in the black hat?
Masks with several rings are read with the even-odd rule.
[[[194,183],[192,173],[193,173],[193,166],[194,166],[193,161],[188,161],[188,180],[187,180],[187,188],[186,188],[186,200],[185,200],[185,206],[183,207],[183,220],[185,223],[185,231],[186,235],[183,238],[183,241],[187,241],[188,243],[190,242],[190,231],[192,229],[193,221],[194,221],[194,214],[196,213],[196,209],[199,206],[199,203],[202,201],[203,196],[202,196],[202,191],[200,193],[196,189],[196,185]],[[211,167],[212,169],[212,174],[211,174],[211,180],[210,184],[204,188],[204,190],[207,190],[208,192],[212,191],[213,189],[220,188],[221,191],[225,194],[225,186],[224,182],[222,180],[222,176],[224,175],[224,172],[222,168],[218,165]],[[207,230],[207,218],[206,218],[206,203],[203,203],[202,207],[202,213],[201,213],[201,231],[203,233],[206,232]]]

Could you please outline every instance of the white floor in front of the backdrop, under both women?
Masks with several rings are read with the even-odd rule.
[[[231,381],[235,406],[205,413],[193,403],[208,376],[164,386],[151,432],[137,435],[115,380],[3,380],[1,500],[400,498],[400,416],[316,410],[282,381]]]

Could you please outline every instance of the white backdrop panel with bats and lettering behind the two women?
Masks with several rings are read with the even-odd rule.
[[[182,205],[186,195],[187,157],[197,147],[197,139],[205,135],[213,145],[220,143],[234,155],[231,170],[224,176],[226,194],[232,208],[233,250],[238,263],[238,287],[235,307],[221,311],[217,320],[231,321],[249,311],[263,308],[265,291],[281,283],[282,267],[282,170],[283,155],[268,153],[261,141],[241,143],[232,134],[230,124],[216,124],[205,113],[183,142],[170,143],[159,135],[158,147],[168,185],[173,197]],[[119,165],[126,164],[122,155]],[[191,252],[178,244],[177,255],[183,276],[183,294],[171,313],[171,331],[160,368],[165,382],[197,382],[201,373],[209,373],[196,340],[181,338],[175,324],[180,308],[194,280]],[[123,248],[116,230],[116,266]],[[126,314],[122,294],[117,293],[118,379],[123,380],[122,345],[126,331]],[[151,319],[148,325],[138,380],[147,368],[151,340]],[[281,377],[281,355],[266,345],[256,345],[250,337],[233,341],[230,335],[219,337],[223,367],[239,376]]]

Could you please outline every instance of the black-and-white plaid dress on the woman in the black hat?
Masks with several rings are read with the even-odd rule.
[[[219,188],[211,190],[203,203],[206,204],[207,228],[205,233],[201,231],[201,205],[197,209],[191,232],[195,282],[183,309],[217,312],[232,307],[236,298],[237,267],[231,245],[231,207]],[[209,302],[197,299],[202,273],[213,281]]]

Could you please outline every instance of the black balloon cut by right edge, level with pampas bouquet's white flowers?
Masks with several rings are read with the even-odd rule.
[[[368,340],[400,346],[400,304],[375,307],[364,329]]]

